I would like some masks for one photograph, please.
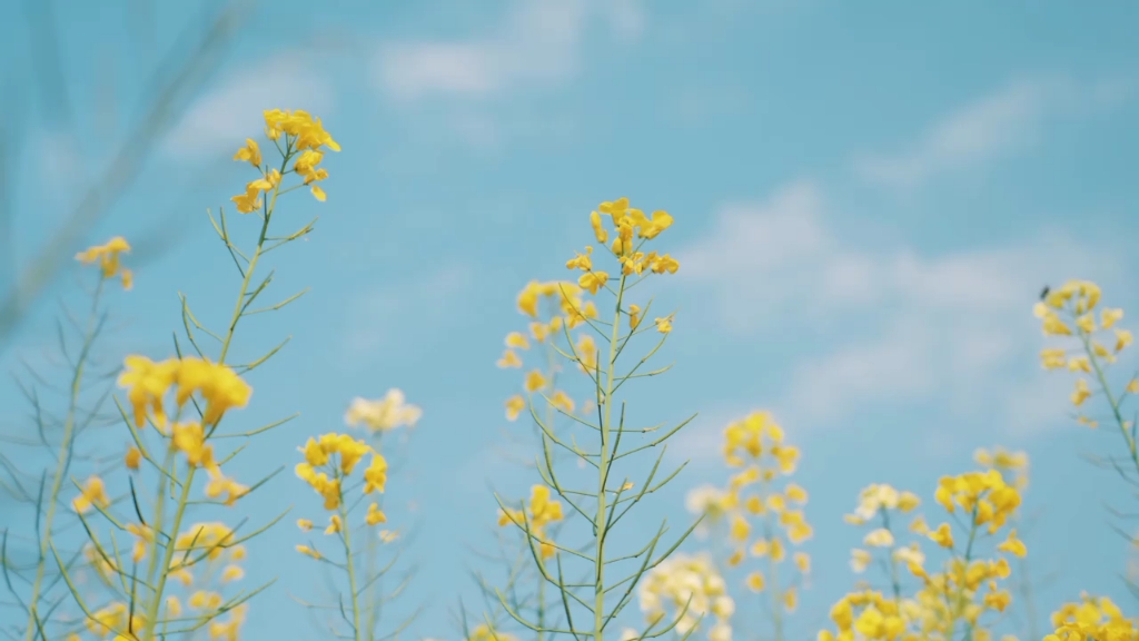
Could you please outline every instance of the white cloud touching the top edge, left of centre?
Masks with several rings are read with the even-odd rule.
[[[595,22],[617,36],[644,27],[633,0],[515,0],[493,35],[467,41],[409,41],[382,47],[376,79],[390,95],[487,97],[576,73]]]

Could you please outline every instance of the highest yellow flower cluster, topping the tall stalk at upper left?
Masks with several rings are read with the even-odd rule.
[[[310,187],[312,195],[323,202],[327,195],[317,185],[318,181],[328,178],[328,171],[319,167],[325,157],[323,149],[327,147],[334,152],[341,151],[341,146],[333,137],[325,131],[320,119],[313,119],[308,112],[297,109],[295,112],[282,109],[268,109],[264,112],[265,135],[273,140],[284,156],[282,169],[288,161],[296,157],[292,170],[285,173],[296,173],[303,180],[303,185]],[[284,136],[285,146],[281,147],[279,140]],[[261,195],[267,192],[274,192],[280,188],[281,170],[268,169],[262,165],[261,148],[256,140],[247,138],[245,146],[233,154],[235,161],[247,162],[260,173],[261,178],[248,182],[245,193],[230,198],[237,205],[237,211],[252,213],[261,208]]]

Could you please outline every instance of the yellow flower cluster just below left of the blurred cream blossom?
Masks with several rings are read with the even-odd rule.
[[[329,432],[321,435],[319,439],[310,438],[304,447],[298,448],[304,454],[304,462],[297,463],[296,476],[308,482],[317,494],[323,497],[326,510],[338,510],[344,501],[343,481],[355,469],[357,464],[371,455],[371,461],[363,472],[363,493],[384,492],[387,484],[387,460],[376,452],[370,445],[362,440],[352,438],[349,435]],[[364,517],[368,525],[385,522],[387,517],[379,510],[376,503],[368,506]],[[310,521],[298,522],[301,529],[312,527]],[[308,526],[308,527],[306,527]],[[329,517],[328,528],[325,534],[336,534],[344,527],[341,514]],[[302,550],[304,547],[304,550]],[[297,546],[297,551],[309,553],[306,546]]]

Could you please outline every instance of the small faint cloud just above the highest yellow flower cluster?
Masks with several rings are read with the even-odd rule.
[[[203,156],[240,146],[264,129],[267,108],[305,109],[327,117],[333,87],[310,56],[277,55],[228,74],[195,102],[164,141],[174,156]]]

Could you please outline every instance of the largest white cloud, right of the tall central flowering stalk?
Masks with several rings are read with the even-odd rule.
[[[829,348],[777,390],[784,415],[821,425],[887,400],[940,399],[1010,430],[1063,416],[1065,395],[1044,387],[1035,360],[1031,305],[1046,282],[1109,284],[1116,260],[1051,233],[947,255],[869,251],[843,240],[827,213],[816,186],[794,184],[726,208],[707,237],[678,252],[681,274],[715,297],[729,330],[797,340],[794,327],[768,331],[794,317],[810,332],[804,344]],[[1029,409],[1041,403],[1049,413]]]

